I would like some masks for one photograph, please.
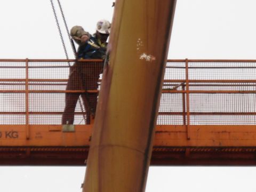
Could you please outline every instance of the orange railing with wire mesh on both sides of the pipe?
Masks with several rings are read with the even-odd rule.
[[[66,90],[68,62],[0,60],[0,124],[61,124],[65,93],[86,92]],[[256,60],[168,60],[157,124],[187,125],[188,137],[189,125],[256,125],[255,74]],[[74,124],[83,113],[77,103]]]

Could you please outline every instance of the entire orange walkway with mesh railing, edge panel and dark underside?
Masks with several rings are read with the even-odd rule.
[[[5,104],[0,105],[1,165],[84,165],[92,125],[75,125],[76,132],[62,132],[58,120],[62,108],[35,100],[36,95],[44,98],[49,94],[46,99],[55,97],[63,105],[60,95],[85,92],[65,90],[67,61],[75,62],[0,60],[1,70],[17,68],[14,72],[18,73],[0,75],[0,102]],[[254,63],[256,60],[167,61],[166,74],[170,75],[164,79],[151,165],[256,165],[256,79],[250,75],[256,68]],[[65,68],[66,76],[47,76],[47,68]],[[38,69],[42,76],[33,75],[31,69]],[[206,76],[214,70],[218,70],[211,72],[215,76]],[[221,70],[233,70],[234,74],[231,78],[219,76]],[[179,73],[182,75],[177,76]],[[47,86],[41,89],[42,85]],[[222,104],[216,107],[216,101]],[[82,116],[82,112],[76,111],[75,116]]]

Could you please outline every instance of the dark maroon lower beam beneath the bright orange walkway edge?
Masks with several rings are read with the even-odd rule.
[[[2,147],[0,165],[85,166],[86,147]],[[153,147],[150,165],[255,166],[255,147]]]

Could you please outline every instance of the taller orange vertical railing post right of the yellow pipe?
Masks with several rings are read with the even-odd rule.
[[[187,139],[190,139],[188,59],[186,59]]]

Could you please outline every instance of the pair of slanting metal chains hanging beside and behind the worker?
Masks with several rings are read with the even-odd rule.
[[[54,8],[54,5],[53,5],[52,0],[50,0],[50,1],[51,1],[51,5],[52,5],[52,11],[53,11],[53,14],[54,14],[54,17],[55,17],[55,22],[56,22],[57,27],[58,27],[58,30],[59,30],[59,35],[60,35],[61,43],[62,43],[64,52],[65,52],[65,55],[66,55],[66,59],[68,59],[68,52],[67,52],[67,49],[66,49],[66,46],[65,46],[65,43],[64,43],[64,39],[63,39],[61,30],[60,30],[60,25],[59,25],[59,21],[58,21],[58,18],[57,18],[57,14],[56,14],[56,11],[55,11],[55,8]],[[66,20],[65,20],[65,17],[64,17],[64,14],[63,14],[63,11],[62,11],[62,8],[61,8],[61,5],[60,5],[59,0],[58,0],[58,4],[59,4],[60,11],[61,11],[61,14],[62,14],[62,18],[63,18],[63,21],[64,21],[64,23],[65,23],[65,27],[66,27],[66,30],[67,30],[67,33],[68,33],[68,38],[69,38],[69,41],[70,41],[70,43],[71,43],[72,50],[73,50],[74,55],[75,55],[75,58],[76,58],[75,45],[72,43],[72,39],[70,38],[70,34],[69,34],[69,32],[68,32],[67,23],[66,23]],[[68,62],[68,66],[69,66],[69,68],[71,67],[70,62]],[[86,121],[85,121],[84,110],[83,110],[83,106],[82,106],[82,101],[81,101],[81,95],[80,95],[78,101],[79,101],[79,106],[80,106],[81,111],[82,111],[82,114],[83,114],[84,122],[86,122]]]

